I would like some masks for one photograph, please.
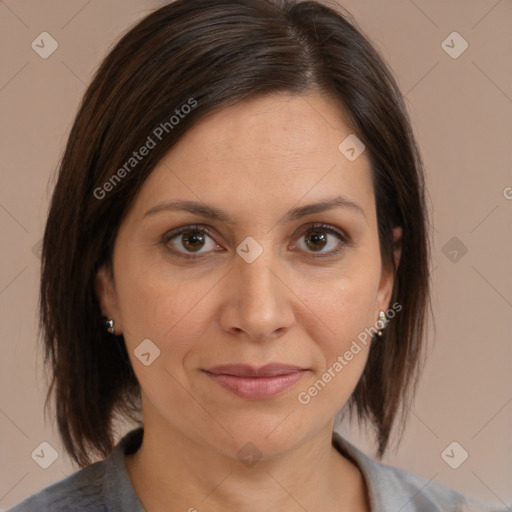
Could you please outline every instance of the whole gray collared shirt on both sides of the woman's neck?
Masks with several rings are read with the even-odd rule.
[[[131,484],[125,454],[137,451],[143,427],[128,432],[103,461],[28,497],[7,512],[145,512]],[[360,469],[368,488],[370,512],[510,512],[512,506],[478,503],[439,483],[381,464],[338,433],[333,445]]]

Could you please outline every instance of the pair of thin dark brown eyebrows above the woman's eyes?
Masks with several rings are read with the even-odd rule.
[[[318,201],[316,203],[311,203],[304,206],[292,208],[281,219],[279,219],[279,222],[291,222],[302,217],[306,217],[307,215],[312,215],[314,213],[322,213],[327,210],[340,207],[348,208],[355,212],[358,212],[366,219],[366,215],[361,206],[359,206],[354,201],[347,199],[346,197],[337,196],[332,199],[324,199],[323,201]],[[158,203],[152,208],[150,208],[144,214],[143,218],[155,215],[160,212],[167,211],[184,211],[195,215],[199,215],[201,217],[205,217],[207,219],[225,222],[226,224],[235,223],[233,218],[227,212],[220,210],[219,208],[204,203],[199,203],[196,201],[184,200],[163,201],[161,203]]]

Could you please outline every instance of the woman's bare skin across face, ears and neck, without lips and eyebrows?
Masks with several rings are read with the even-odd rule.
[[[144,440],[125,460],[146,510],[369,510],[359,469],[331,436],[370,344],[360,344],[309,404],[297,399],[390,307],[393,274],[380,259],[369,160],[363,152],[351,162],[338,150],[353,133],[346,119],[337,102],[318,93],[273,94],[225,108],[167,153],[120,226],[113,275],[100,269],[97,293],[103,314],[124,335],[141,385]],[[280,220],[291,208],[335,195],[363,213],[336,207]],[[144,216],[176,199],[213,205],[233,223],[177,211]],[[341,230],[352,246],[321,231],[324,246],[311,247],[312,223]],[[187,254],[183,235],[167,245],[162,239],[194,224],[209,226],[212,236],[192,245],[198,259],[180,258],[171,249]],[[263,248],[252,263],[236,252],[247,236]],[[395,240],[400,236],[395,228]],[[161,351],[149,366],[134,355],[147,338]],[[268,362],[308,371],[291,389],[257,400],[201,371]],[[253,466],[237,457],[248,442],[261,452]]]

